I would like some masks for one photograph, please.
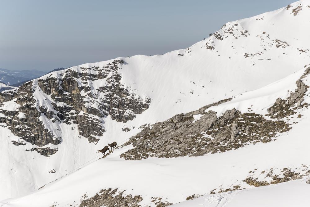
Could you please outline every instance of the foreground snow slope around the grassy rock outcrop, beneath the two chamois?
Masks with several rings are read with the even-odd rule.
[[[255,98],[268,97],[267,101],[263,100],[260,102],[260,108],[256,110],[260,112],[261,108],[263,108],[266,111],[263,110],[261,112],[263,114],[267,113],[267,108],[272,105],[277,97],[282,96],[284,98],[287,96],[288,90],[296,88],[296,78],[298,79],[304,72],[305,69],[299,70],[285,79],[244,94],[246,98],[250,97],[250,99],[238,101],[233,101],[234,99],[232,99],[232,101],[215,106],[216,109],[214,110],[219,112],[225,110],[229,104],[232,104],[237,106],[237,110],[242,111],[248,108],[244,104],[245,101],[249,101],[248,103],[250,104]],[[309,74],[303,78],[303,81],[310,85]],[[274,90],[270,90],[270,88],[274,88]],[[305,93],[305,103],[310,101],[309,94],[310,90],[308,89]],[[242,96],[240,94],[236,96],[236,99],[240,99]],[[141,196],[143,200],[139,202],[139,205],[156,206],[152,202],[155,198],[157,198],[156,202],[178,203],[186,200],[188,196],[201,196],[209,194],[211,191],[233,189],[234,186],[239,186],[240,189],[255,188],[244,180],[246,178],[257,178],[257,181],[270,182],[275,175],[278,175],[280,178],[284,176],[285,178],[285,169],[308,178],[310,176],[310,162],[308,159],[310,157],[308,150],[310,141],[307,136],[307,126],[310,110],[304,107],[296,109],[296,112],[296,114],[290,115],[290,119],[287,120],[288,123],[292,124],[292,129],[286,133],[278,134],[277,138],[270,143],[249,144],[237,150],[198,157],[148,158],[143,160],[124,160],[120,158],[120,154],[132,147],[126,146],[114,150],[107,157],[92,162],[73,173],[69,173],[29,195],[17,199],[4,200],[2,201],[2,206],[79,206],[82,200],[94,196],[101,189],[109,188],[117,189],[117,192],[113,193],[114,196],[124,191],[122,193],[123,196]],[[301,118],[299,118],[299,114]],[[267,176],[268,174],[271,176]],[[307,190],[307,192],[310,188],[310,185],[305,186],[303,183],[299,184],[299,182],[289,182],[283,185],[293,185],[295,188],[301,185],[302,189]],[[281,190],[281,186],[282,184],[279,184],[279,187],[272,187],[272,189],[280,188],[279,190]],[[206,198],[211,200],[206,206],[216,206],[213,205],[214,202],[219,202],[219,204],[224,206],[224,201],[226,203],[228,202],[227,200],[232,200],[233,204],[233,199],[236,197],[237,201],[235,203],[237,204],[239,199],[242,199],[244,196],[250,195],[255,197],[257,191],[263,191],[263,195],[268,194],[269,191],[261,190],[269,189],[268,187],[204,196],[198,198],[197,202],[200,205],[201,199]],[[158,200],[159,198],[161,199]],[[223,199],[223,202],[221,199]],[[188,201],[183,206],[194,206],[197,204],[195,202],[196,200],[193,200],[193,202]],[[244,205],[241,206],[247,206],[246,202],[250,202],[250,200],[247,199],[242,202],[244,202]],[[278,201],[273,200],[272,202]],[[303,206],[302,204],[307,202],[307,199],[296,202],[299,206]],[[181,204],[179,205],[182,206]]]

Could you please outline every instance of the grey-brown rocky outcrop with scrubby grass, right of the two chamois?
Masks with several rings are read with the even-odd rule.
[[[297,108],[308,107],[309,104],[302,104],[309,88],[302,79],[308,74],[310,67],[296,81],[297,89],[286,100],[278,98],[268,109],[266,117],[256,113],[241,113],[235,108],[226,110],[219,117],[215,111],[207,111],[211,106],[231,100],[226,99],[145,127],[125,143],[132,144],[134,148],[121,157],[139,160],[148,157],[200,156],[237,149],[250,143],[271,142],[278,133],[290,130],[290,125],[282,118],[295,114]]]

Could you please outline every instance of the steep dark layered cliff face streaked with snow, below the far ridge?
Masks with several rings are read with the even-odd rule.
[[[6,116],[0,121],[14,135],[35,145],[30,151],[46,156],[56,149],[42,146],[60,144],[61,137],[45,127],[39,119],[42,115],[53,123],[77,124],[79,134],[96,143],[104,133],[104,117],[110,115],[125,123],[148,109],[151,101],[124,88],[118,73],[122,64],[124,61],[114,60],[103,67],[70,68],[57,72],[56,77],[53,73],[0,93],[1,105],[6,101],[20,105],[15,111],[0,110]],[[51,104],[42,105],[34,93],[43,94],[42,98],[49,99]]]

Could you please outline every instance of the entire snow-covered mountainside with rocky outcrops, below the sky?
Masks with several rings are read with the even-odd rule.
[[[167,206],[307,178],[309,17],[298,1],[0,93],[0,206]]]

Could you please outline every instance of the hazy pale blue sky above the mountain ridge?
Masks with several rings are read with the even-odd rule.
[[[52,70],[186,48],[293,0],[1,0],[0,68]]]

